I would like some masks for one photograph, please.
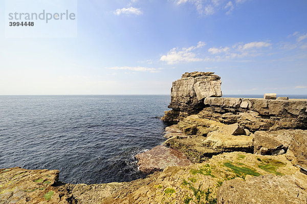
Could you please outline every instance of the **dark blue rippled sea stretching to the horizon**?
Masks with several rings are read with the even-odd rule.
[[[160,118],[169,102],[169,95],[0,96],[0,169],[58,169],[71,184],[145,177],[135,155],[166,140]]]

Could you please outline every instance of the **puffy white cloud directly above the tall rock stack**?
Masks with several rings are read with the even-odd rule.
[[[168,64],[176,64],[179,62],[203,61],[203,59],[196,57],[196,54],[191,51],[203,48],[205,45],[205,42],[199,41],[197,46],[182,48],[181,50],[178,48],[173,48],[166,55],[163,55],[160,60],[165,61]]]

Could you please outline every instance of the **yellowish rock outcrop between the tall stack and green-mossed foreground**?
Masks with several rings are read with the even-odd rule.
[[[191,115],[180,121],[177,128],[186,137],[177,133],[164,144],[183,152],[193,162],[203,162],[223,152],[253,152],[253,135],[246,135],[238,124],[227,125]],[[176,125],[171,129],[175,131]]]

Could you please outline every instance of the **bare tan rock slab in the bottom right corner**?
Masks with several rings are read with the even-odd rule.
[[[307,193],[297,186],[295,178],[272,174],[254,176],[246,181],[242,178],[227,180],[217,191],[219,204],[300,204],[306,200]]]

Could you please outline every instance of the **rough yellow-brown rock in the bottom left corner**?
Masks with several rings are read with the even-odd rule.
[[[69,203],[69,192],[55,187],[58,170],[0,169],[0,203]]]

